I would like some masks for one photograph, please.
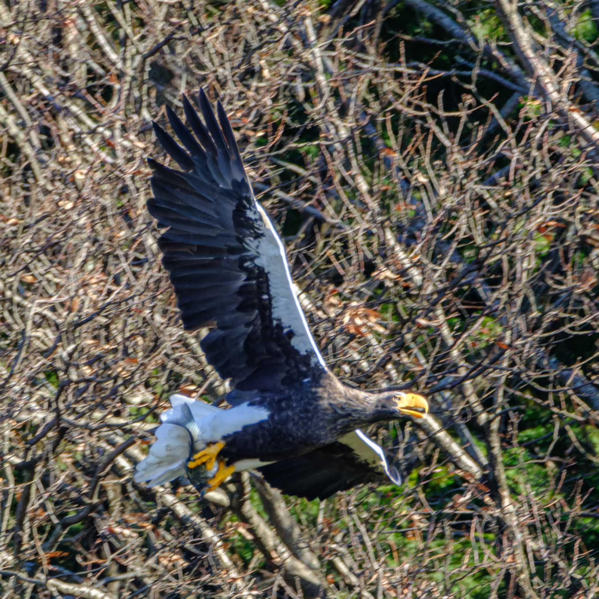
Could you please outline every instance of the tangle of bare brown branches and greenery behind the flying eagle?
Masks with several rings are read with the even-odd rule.
[[[2,1],[2,597],[595,597],[598,17]],[[151,120],[199,86],[332,370],[429,398],[422,422],[369,431],[400,488],[132,482],[171,392],[227,389],[145,207]]]

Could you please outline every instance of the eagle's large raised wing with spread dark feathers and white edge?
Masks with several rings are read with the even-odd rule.
[[[203,92],[204,123],[183,96],[188,129],[167,107],[183,147],[154,123],[158,141],[181,168],[149,159],[162,263],[184,328],[214,328],[206,358],[239,391],[276,391],[325,370],[292,289],[283,244],[252,192],[220,102],[218,121]],[[220,122],[220,126],[219,126]],[[192,134],[195,134],[194,135]]]

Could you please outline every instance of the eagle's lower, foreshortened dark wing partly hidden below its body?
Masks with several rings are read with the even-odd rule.
[[[383,449],[360,430],[344,435],[336,443],[258,470],[283,493],[308,500],[326,499],[361,483],[382,483],[385,474],[401,485],[401,475],[389,464]]]

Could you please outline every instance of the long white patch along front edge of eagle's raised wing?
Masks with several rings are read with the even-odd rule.
[[[249,184],[249,181],[248,181]],[[250,190],[252,186],[250,184]],[[264,237],[258,239],[244,239],[244,243],[250,247],[255,253],[255,263],[259,267],[264,268],[268,276],[268,284],[270,285],[270,295],[273,309],[273,319],[283,325],[283,330],[288,332],[292,330],[294,336],[291,339],[292,346],[299,353],[305,354],[313,352],[316,355],[319,363],[326,368],[326,363],[322,355],[316,347],[314,338],[308,328],[308,323],[305,319],[304,312],[299,305],[297,296],[295,295],[289,272],[289,264],[285,255],[283,243],[277,235],[273,223],[268,218],[264,208],[256,200],[256,196],[252,190],[252,198],[254,201],[255,210],[248,211],[247,216],[256,223],[256,230],[264,230]]]

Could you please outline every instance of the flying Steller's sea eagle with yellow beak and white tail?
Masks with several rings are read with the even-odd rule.
[[[400,484],[397,468],[359,427],[419,418],[428,412],[425,398],[353,389],[326,367],[225,111],[217,102],[217,120],[203,90],[199,107],[204,123],[183,96],[187,126],[166,109],[183,147],[154,123],[181,170],[148,159],[154,198],[147,207],[166,229],[158,246],[184,328],[211,326],[200,345],[217,373],[231,380],[231,408],[171,396],[135,480],[158,485],[187,476],[202,492],[234,471],[255,468],[286,494],[308,499],[383,473]]]

